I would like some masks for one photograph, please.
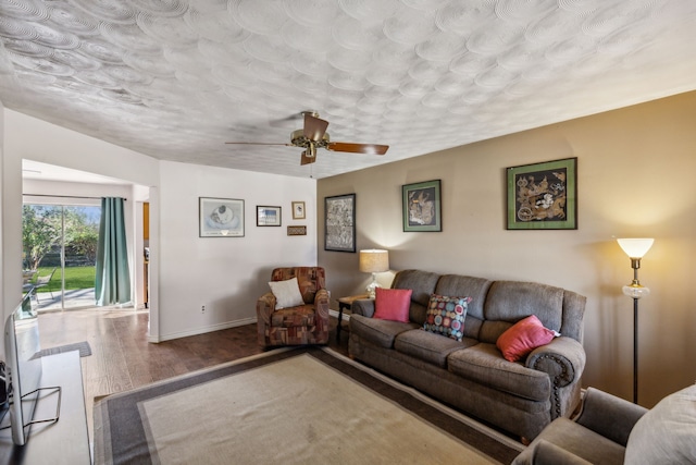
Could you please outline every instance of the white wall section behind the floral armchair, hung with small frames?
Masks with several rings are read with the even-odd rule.
[[[273,268],[316,264],[315,180],[166,161],[161,180],[161,339],[252,322]],[[199,197],[243,199],[245,236],[199,237]],[[293,220],[298,200],[304,220]],[[281,207],[282,227],[257,227],[257,206]]]

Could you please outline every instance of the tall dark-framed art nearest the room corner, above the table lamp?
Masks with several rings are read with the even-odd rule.
[[[324,198],[324,250],[356,252],[356,194]]]

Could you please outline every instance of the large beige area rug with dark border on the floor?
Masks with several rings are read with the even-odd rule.
[[[96,464],[507,464],[521,450],[328,348],[276,350],[95,405]]]

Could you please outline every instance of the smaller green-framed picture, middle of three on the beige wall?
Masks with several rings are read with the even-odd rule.
[[[406,184],[401,195],[405,232],[443,230],[439,180]]]

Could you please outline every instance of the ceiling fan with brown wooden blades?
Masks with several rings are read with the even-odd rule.
[[[304,149],[300,158],[300,164],[313,163],[316,161],[316,149],[325,148],[332,151],[346,151],[351,154],[384,155],[389,148],[388,145],[378,144],[355,144],[347,142],[331,142],[326,127],[328,121],[321,120],[315,111],[303,111],[304,127],[293,131],[289,144],[254,143],[254,142],[227,142],[225,144],[247,144],[247,145],[284,145],[288,147],[301,147]]]

